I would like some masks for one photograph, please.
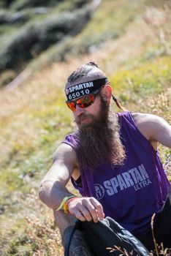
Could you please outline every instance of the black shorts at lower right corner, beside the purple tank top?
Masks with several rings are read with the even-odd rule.
[[[161,243],[164,248],[171,248],[171,194],[167,196],[161,211],[155,215],[153,220],[153,233],[156,239],[156,244]],[[150,230],[143,236],[136,236],[148,250],[155,249],[152,231]]]

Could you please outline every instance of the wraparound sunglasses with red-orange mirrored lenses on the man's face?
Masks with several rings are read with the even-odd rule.
[[[66,101],[66,105],[70,110],[75,111],[76,110],[76,105],[79,108],[88,108],[91,104],[94,103],[94,100],[96,98],[96,95],[99,94],[99,89],[92,92],[91,94],[86,94],[83,97],[79,97],[78,99],[71,100],[69,102]]]

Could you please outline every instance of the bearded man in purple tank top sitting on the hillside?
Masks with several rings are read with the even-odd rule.
[[[39,198],[53,208],[64,246],[76,218],[98,222],[109,216],[153,249],[156,213],[156,241],[171,247],[170,182],[157,153],[158,142],[171,147],[170,125],[151,114],[113,113],[112,97],[122,107],[94,62],[69,76],[65,92],[77,130],[58,146],[39,189]],[[67,191],[70,178],[82,197]],[[79,231],[70,248],[70,255],[91,255]]]

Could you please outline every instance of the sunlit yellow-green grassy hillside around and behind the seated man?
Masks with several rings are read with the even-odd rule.
[[[102,1],[79,34],[31,62],[29,68],[42,69],[26,83],[1,89],[0,255],[63,255],[58,227],[37,191],[53,152],[74,127],[64,83],[78,65],[96,61],[126,108],[171,122],[169,4]],[[65,62],[53,63],[56,50]],[[170,150],[159,146],[159,153],[171,179]]]

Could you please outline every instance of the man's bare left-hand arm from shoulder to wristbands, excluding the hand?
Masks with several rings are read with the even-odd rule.
[[[48,207],[56,209],[64,197],[72,195],[66,189],[66,184],[75,168],[76,154],[71,146],[61,144],[56,151],[56,160],[39,188],[39,198]]]

